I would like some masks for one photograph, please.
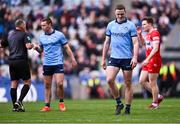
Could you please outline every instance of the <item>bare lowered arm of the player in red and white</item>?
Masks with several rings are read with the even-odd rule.
[[[151,51],[151,53],[149,54],[149,56],[143,61],[142,65],[145,66],[149,63],[149,61],[151,60],[151,58],[154,56],[154,54],[158,51],[159,48],[159,42],[153,42],[152,43],[153,49]]]

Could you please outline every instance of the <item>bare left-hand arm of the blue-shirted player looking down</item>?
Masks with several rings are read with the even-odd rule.
[[[110,37],[106,36],[106,39],[104,41],[104,45],[103,45],[103,52],[102,52],[102,67],[103,69],[106,69],[106,56],[107,56],[107,52],[110,46]]]

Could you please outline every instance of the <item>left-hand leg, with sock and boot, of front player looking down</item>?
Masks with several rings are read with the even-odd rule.
[[[121,102],[120,95],[119,95],[119,89],[115,83],[115,78],[116,78],[116,75],[118,74],[118,72],[119,72],[118,67],[107,66],[107,68],[106,68],[106,81],[107,81],[107,83],[110,87],[110,91],[117,103],[116,111],[115,111],[116,115],[120,114],[121,110],[124,107]]]

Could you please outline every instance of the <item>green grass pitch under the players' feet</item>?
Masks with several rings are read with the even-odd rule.
[[[113,99],[65,99],[66,112],[59,111],[58,101],[51,103],[50,112],[39,111],[43,102],[24,103],[26,112],[12,112],[11,103],[0,103],[0,123],[180,123],[180,98],[165,99],[157,110],[149,110],[150,103],[134,99],[131,115],[114,115]]]

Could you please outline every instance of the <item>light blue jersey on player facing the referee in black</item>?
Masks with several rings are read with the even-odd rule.
[[[62,47],[67,43],[63,33],[57,30],[51,34],[43,33],[39,37],[39,43],[44,50],[43,65],[63,64]]]

